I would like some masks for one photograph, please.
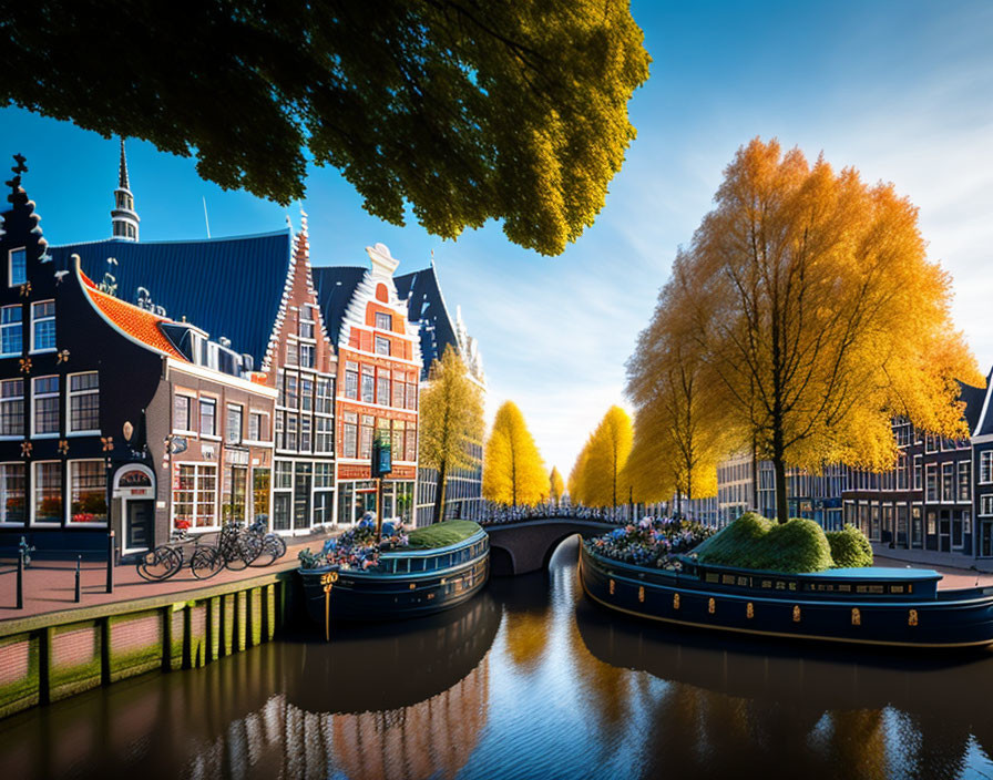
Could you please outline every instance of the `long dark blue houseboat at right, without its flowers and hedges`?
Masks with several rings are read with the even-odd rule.
[[[580,578],[611,609],[684,626],[905,647],[993,643],[993,587],[938,589],[938,572],[784,574],[680,560],[649,569],[580,552]]]

